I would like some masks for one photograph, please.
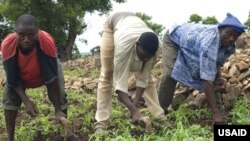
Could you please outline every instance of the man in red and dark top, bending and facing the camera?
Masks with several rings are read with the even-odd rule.
[[[14,140],[15,119],[21,103],[31,117],[38,114],[35,103],[26,95],[27,88],[46,85],[56,120],[65,117],[67,99],[54,39],[38,29],[35,17],[21,15],[16,22],[16,32],[6,36],[1,49],[7,78],[3,108],[8,140]]]

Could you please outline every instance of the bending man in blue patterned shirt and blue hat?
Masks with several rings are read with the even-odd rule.
[[[159,88],[163,109],[171,104],[176,83],[204,91],[214,124],[225,121],[214,95],[214,82],[226,59],[235,52],[235,41],[246,27],[228,13],[218,25],[184,23],[167,31],[163,39],[164,73]]]

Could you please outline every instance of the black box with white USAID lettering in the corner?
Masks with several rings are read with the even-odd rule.
[[[250,125],[214,125],[214,141],[240,139],[249,141]]]

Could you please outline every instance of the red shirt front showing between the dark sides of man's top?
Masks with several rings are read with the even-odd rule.
[[[21,51],[18,51],[17,60],[20,68],[20,76],[25,88],[35,88],[44,84],[36,48],[28,55],[24,55]]]

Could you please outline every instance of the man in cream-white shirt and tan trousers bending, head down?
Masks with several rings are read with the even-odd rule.
[[[130,111],[133,123],[144,122],[137,109],[141,96],[152,116],[161,124],[168,123],[151,77],[158,47],[157,35],[135,14],[119,12],[107,18],[101,43],[102,67],[97,91],[96,133],[108,126],[113,88],[118,99]],[[136,76],[136,96],[133,101],[128,97],[131,73]]]

